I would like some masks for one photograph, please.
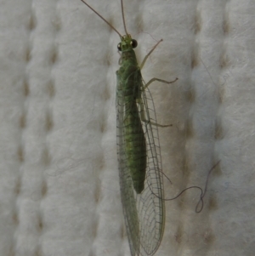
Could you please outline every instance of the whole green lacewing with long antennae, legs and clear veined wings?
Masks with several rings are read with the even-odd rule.
[[[81,1],[111,26],[88,3]],[[117,46],[121,58],[120,68],[116,71],[116,139],[122,208],[132,256],[147,256],[156,253],[165,225],[161,151],[157,130],[158,126],[164,126],[156,123],[156,112],[148,86],[154,81],[172,83],[177,78],[172,82],[152,78],[144,83],[141,69],[162,40],[156,43],[139,65],[133,51],[138,43],[127,32],[123,3],[122,20],[126,33],[124,36],[111,26],[121,40]]]

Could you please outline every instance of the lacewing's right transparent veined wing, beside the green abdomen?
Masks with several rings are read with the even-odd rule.
[[[156,253],[165,226],[165,203],[161,173],[161,151],[156,125],[155,106],[149,88],[141,91],[140,113],[144,112],[143,129],[147,145],[147,169],[144,191],[137,200],[140,243],[148,255]],[[144,108],[144,110],[143,110]],[[141,116],[141,115],[140,115]]]

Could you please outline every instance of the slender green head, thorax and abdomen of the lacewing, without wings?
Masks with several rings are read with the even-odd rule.
[[[127,45],[127,48],[122,46],[121,67],[116,71],[117,97],[122,98],[123,105],[122,136],[127,168],[133,180],[133,189],[139,194],[144,190],[147,157],[146,140],[137,105],[143,83],[135,53],[128,43],[129,37],[124,39],[124,43],[127,43],[124,46]]]

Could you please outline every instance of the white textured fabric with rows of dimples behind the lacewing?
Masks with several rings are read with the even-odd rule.
[[[88,1],[123,34],[119,0]],[[156,255],[255,252],[255,2],[124,0],[155,82],[166,228]],[[116,162],[119,37],[79,0],[0,0],[0,255],[130,255]]]

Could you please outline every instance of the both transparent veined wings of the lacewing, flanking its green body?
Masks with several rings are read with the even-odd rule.
[[[144,181],[144,191],[137,194],[133,190],[133,181],[127,168],[125,152],[125,100],[122,86],[117,84],[116,113],[117,113],[117,152],[122,195],[122,208],[127,228],[127,236],[132,256],[153,255],[161,243],[164,231],[165,208],[163,184],[161,175],[161,153],[156,126],[156,113],[150,90],[139,86],[140,99],[137,100],[139,117],[146,139],[147,167]],[[142,84],[142,82],[138,82]]]

